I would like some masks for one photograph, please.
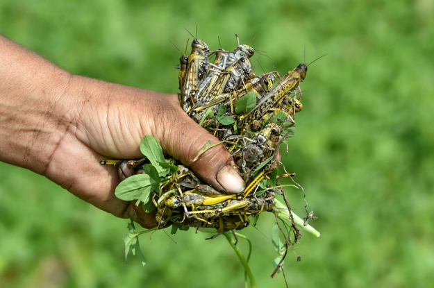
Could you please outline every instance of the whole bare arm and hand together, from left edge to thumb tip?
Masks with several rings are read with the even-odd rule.
[[[215,189],[235,193],[244,188],[224,146],[192,162],[206,142],[219,140],[185,114],[177,94],[71,76],[12,42],[6,41],[6,48],[6,69],[15,74],[0,73],[5,80],[0,88],[10,95],[0,106],[13,107],[0,108],[0,128],[8,139],[0,140],[0,160],[41,173],[101,210],[130,215],[145,228],[156,226],[155,217],[137,214],[132,203],[116,198],[117,171],[99,164],[107,158],[141,158],[145,135],[156,137],[165,153]],[[26,76],[14,68],[25,69]]]

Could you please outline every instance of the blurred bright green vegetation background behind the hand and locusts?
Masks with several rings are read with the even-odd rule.
[[[265,2],[0,0],[0,33],[73,74],[160,92],[177,91],[180,55],[168,38],[183,51],[183,26],[198,24],[210,49],[217,37],[227,50],[235,33],[245,44],[256,37],[272,57],[257,55],[262,66],[281,75],[305,61],[305,45],[306,62],[327,53],[301,85],[284,158],[322,232],[305,232],[288,253],[289,285],[434,287],[434,2]],[[287,195],[303,216],[301,191]],[[259,231],[242,231],[259,287],[284,287],[281,274],[269,277],[273,221],[262,215]],[[0,287],[244,287],[226,239],[192,230],[176,244],[144,235],[147,265],[125,262],[127,222],[0,163]]]

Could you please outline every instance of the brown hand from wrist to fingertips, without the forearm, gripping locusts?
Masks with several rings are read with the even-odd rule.
[[[76,196],[119,217],[130,214],[142,226],[155,226],[154,217],[146,214],[137,217],[133,204],[115,197],[119,183],[117,171],[99,164],[107,157],[141,158],[138,144],[144,135],[156,137],[165,153],[190,167],[216,189],[241,192],[244,188],[224,146],[216,146],[192,162],[206,142],[214,144],[219,140],[185,114],[177,94],[161,94],[78,76],[72,76],[69,86],[70,92],[64,97],[81,90],[82,103],[77,103],[81,110],[54,151],[46,176],[55,182],[61,179],[62,186]]]

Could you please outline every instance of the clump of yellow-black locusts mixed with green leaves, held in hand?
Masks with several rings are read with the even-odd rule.
[[[176,66],[183,110],[231,153],[247,184],[244,192],[228,194],[206,185],[190,169],[164,156],[151,136],[140,144],[145,158],[101,164],[130,170],[133,176],[119,184],[116,194],[137,201],[137,208],[145,212],[156,210],[156,229],[192,227],[214,231],[210,237],[214,238],[246,228],[262,212],[273,212],[278,230],[284,234],[281,251],[286,255],[287,248],[301,238],[299,227],[319,237],[307,223],[316,218],[313,212],[306,210],[303,219],[292,213],[278,183],[279,178],[289,177],[303,189],[293,180],[295,174],[287,173],[281,164],[279,147],[294,135],[295,116],[303,108],[299,85],[306,78],[308,65],[300,64],[283,77],[277,71],[257,75],[249,60],[254,52],[239,40],[233,51],[210,51],[205,42],[195,38],[190,55],[182,55]],[[211,148],[205,146],[202,152]],[[281,195],[283,202],[276,195]]]

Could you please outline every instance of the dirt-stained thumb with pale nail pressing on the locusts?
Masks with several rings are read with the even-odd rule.
[[[204,182],[212,185],[217,190],[228,193],[240,193],[244,190],[244,180],[238,172],[231,154],[223,144],[212,146],[199,155],[206,144],[217,144],[219,139],[211,135],[205,128],[199,126],[183,111],[178,102],[178,96],[172,98],[175,101],[173,113],[167,113],[165,127],[159,127],[161,133],[160,143],[165,153],[180,160]],[[194,158],[199,155],[195,161]]]

